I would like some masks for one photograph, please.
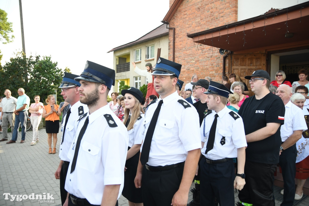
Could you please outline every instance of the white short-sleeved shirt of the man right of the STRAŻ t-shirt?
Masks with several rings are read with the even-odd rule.
[[[281,125],[281,141],[284,142],[296,130],[306,130],[307,124],[304,119],[303,111],[291,101],[285,105],[284,124]]]

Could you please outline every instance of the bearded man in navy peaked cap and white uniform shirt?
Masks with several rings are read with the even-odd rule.
[[[129,137],[125,125],[107,104],[108,92],[115,85],[115,70],[87,61],[81,76],[74,80],[81,84],[80,102],[87,104],[89,115],[79,123],[67,155],[66,202],[118,205]]]

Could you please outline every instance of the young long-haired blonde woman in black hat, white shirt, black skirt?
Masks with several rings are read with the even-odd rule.
[[[128,90],[122,90],[121,94],[124,96],[125,101],[125,119],[123,123],[129,133],[129,147],[125,162],[125,183],[122,195],[128,199],[129,206],[142,206],[142,190],[135,187],[134,178],[137,172],[139,151],[143,140],[144,111],[140,107],[143,93],[131,87]]]

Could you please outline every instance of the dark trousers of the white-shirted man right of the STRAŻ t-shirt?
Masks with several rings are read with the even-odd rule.
[[[281,206],[291,206],[295,198],[295,175],[296,175],[296,144],[282,151],[279,156],[279,165],[283,177],[283,202]]]

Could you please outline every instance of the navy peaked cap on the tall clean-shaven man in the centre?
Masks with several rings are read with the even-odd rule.
[[[180,75],[180,70],[181,64],[159,57],[151,75],[175,75],[178,78]]]

